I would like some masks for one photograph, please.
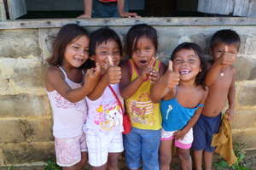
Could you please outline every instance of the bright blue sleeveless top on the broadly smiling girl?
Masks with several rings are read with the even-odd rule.
[[[162,113],[162,127],[165,131],[176,131],[183,129],[198,107],[204,105],[199,104],[195,108],[186,108],[177,102],[177,88],[173,99],[161,100],[160,111]]]

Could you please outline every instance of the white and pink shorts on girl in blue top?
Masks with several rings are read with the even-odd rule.
[[[172,140],[174,139],[173,133],[176,131],[161,131],[161,140]],[[193,142],[193,129],[191,128],[188,133],[185,134],[183,139],[175,139],[175,146],[181,149],[191,148]]]

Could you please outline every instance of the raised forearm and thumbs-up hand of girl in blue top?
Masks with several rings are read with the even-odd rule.
[[[179,74],[172,71],[172,61],[169,61],[169,66],[166,73],[160,77],[158,82],[152,84],[150,89],[150,99],[153,103],[160,102],[160,99],[166,96],[170,90],[174,89],[179,82]]]

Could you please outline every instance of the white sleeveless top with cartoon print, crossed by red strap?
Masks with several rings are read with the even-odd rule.
[[[117,94],[120,102],[123,99],[119,94],[119,83],[109,84],[113,91]],[[110,132],[123,132],[123,115],[117,99],[114,97],[108,86],[104,89],[102,96],[96,100],[90,100],[86,97],[88,104],[88,117],[84,127],[85,133],[88,130],[103,132],[100,134],[108,134]]]

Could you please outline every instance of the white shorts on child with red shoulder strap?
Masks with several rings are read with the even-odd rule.
[[[124,150],[122,133],[96,134],[86,133],[89,164],[100,167],[107,163],[108,153],[119,153]]]

